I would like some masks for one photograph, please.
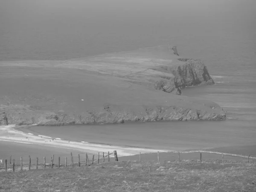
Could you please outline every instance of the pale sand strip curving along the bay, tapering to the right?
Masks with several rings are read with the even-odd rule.
[[[76,151],[83,151],[91,154],[102,154],[102,151],[118,151],[119,157],[130,156],[141,153],[154,153],[154,152],[165,152],[166,150],[157,150],[157,149],[148,149],[148,148],[136,148],[136,147],[123,147],[115,145],[100,145],[96,143],[88,143],[82,141],[69,141],[62,140],[61,138],[49,138],[44,135],[35,135],[19,131],[19,127],[15,125],[6,125],[0,126],[0,131],[3,131],[4,134],[1,134],[0,141],[9,141],[16,143],[32,144],[32,145],[43,145],[49,147],[57,147],[64,149],[75,149]],[[114,157],[114,156],[110,156]]]

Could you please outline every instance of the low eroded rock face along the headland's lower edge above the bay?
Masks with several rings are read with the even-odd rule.
[[[219,106],[218,106],[219,107]],[[104,109],[104,108],[102,108]],[[35,112],[34,112],[35,113]],[[8,114],[11,115],[11,114]],[[35,115],[35,114],[31,114]],[[58,116],[56,114],[56,116]],[[52,119],[49,119],[52,117]],[[61,119],[56,120],[55,115],[41,114],[35,116],[34,122],[27,121],[22,116],[12,118],[11,124],[32,125],[34,123],[41,126],[58,126],[58,125],[79,125],[79,124],[103,124],[103,123],[124,123],[124,122],[153,122],[153,121],[188,121],[188,120],[224,120],[226,115],[224,111],[201,111],[191,108],[180,108],[175,106],[159,106],[156,108],[145,108],[145,113],[134,113],[131,111],[116,111],[108,106],[103,111],[88,111],[86,114],[70,116],[62,114]],[[47,119],[46,119],[47,118]],[[6,116],[5,116],[5,119]],[[6,123],[6,122],[5,122]],[[5,124],[8,125],[8,124]]]

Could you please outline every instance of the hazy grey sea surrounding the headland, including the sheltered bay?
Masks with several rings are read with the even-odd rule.
[[[70,138],[60,135],[59,127],[30,131],[90,142],[102,137],[103,143],[113,143],[107,134],[116,133],[120,137],[115,145],[218,148],[256,155],[255,1],[115,1],[115,6],[103,1],[98,2],[101,6],[79,0],[35,2],[6,1],[0,6],[0,61],[66,60],[170,44],[177,46],[181,58],[204,61],[215,81],[212,86],[186,87],[182,95],[218,103],[227,120],[73,126]],[[70,129],[65,126],[61,132]]]

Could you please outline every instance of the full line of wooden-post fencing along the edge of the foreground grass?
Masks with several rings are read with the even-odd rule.
[[[184,159],[198,159],[200,160],[200,162],[202,163],[202,161],[204,159],[219,159],[222,160],[222,163],[224,163],[224,159],[228,160],[227,157],[240,157],[240,158],[246,158],[247,163],[250,162],[250,160],[256,160],[256,157],[253,157],[252,154],[249,154],[248,156],[244,156],[244,155],[239,155],[239,154],[228,154],[228,153],[221,153],[221,152],[216,152],[216,151],[166,151],[166,152],[157,152],[157,153],[143,153],[143,154],[137,154],[137,155],[133,155],[133,156],[127,156],[127,157],[117,157],[117,152],[113,151],[112,153],[110,153],[109,151],[106,153],[103,152],[102,155],[100,155],[100,153],[98,153],[97,158],[95,158],[95,155],[92,155],[92,159],[89,160],[89,157],[87,155],[87,153],[85,154],[85,157],[82,157],[80,154],[77,155],[77,163],[74,163],[74,156],[72,154],[72,152],[70,153],[70,157],[69,160],[71,163],[68,164],[68,158],[61,158],[58,157],[57,160],[57,164],[55,164],[54,161],[54,155],[52,155],[52,157],[47,158],[43,157],[41,159],[41,162],[43,163],[39,163],[39,159],[38,157],[36,157],[36,163],[31,163],[31,157],[29,156],[28,159],[26,159],[26,162],[24,162],[23,157],[20,157],[20,161],[12,159],[12,156],[10,157],[9,160],[5,160],[4,162],[0,162],[2,164],[4,164],[4,169],[5,172],[7,172],[8,170],[12,170],[13,172],[15,172],[15,169],[17,169],[18,167],[20,167],[20,169],[18,170],[30,170],[30,169],[46,169],[46,168],[53,168],[53,167],[74,167],[74,166],[89,166],[96,163],[104,163],[104,162],[110,162],[111,158],[110,155],[114,154],[114,158],[115,161],[118,160],[135,160],[135,161],[152,161],[152,160],[157,160],[157,162],[159,161],[164,161],[164,160],[184,160]],[[188,157],[185,157],[184,154],[192,154]],[[210,156],[209,156],[210,154]],[[213,157],[211,155],[218,155],[220,157]],[[102,156],[102,157],[100,157]],[[142,157],[143,156],[143,157]],[[191,158],[192,157],[192,158]],[[208,158],[207,158],[208,157]],[[84,160],[84,161],[81,161]],[[17,162],[20,162],[17,163]],[[49,162],[49,163],[47,163]],[[83,164],[83,165],[82,165]],[[11,166],[11,168],[10,168]],[[2,168],[2,170],[4,170]]]

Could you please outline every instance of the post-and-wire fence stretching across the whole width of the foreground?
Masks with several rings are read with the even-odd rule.
[[[195,154],[195,153],[199,153]],[[99,164],[99,163],[104,163],[104,162],[110,162],[112,157],[111,155],[114,155],[114,161],[118,161],[117,157],[117,152],[102,152],[102,154],[98,153],[98,155],[92,155],[90,157],[87,155],[87,153],[84,154],[77,154],[73,155],[72,152],[70,153],[69,157],[56,157],[55,155],[52,155],[51,157],[41,157],[40,159],[38,157],[32,158],[30,156],[23,158],[20,157],[20,159],[13,159],[12,156],[10,156],[9,159],[5,160],[0,160],[0,172],[7,172],[7,171],[21,171],[21,170],[30,170],[30,169],[49,169],[53,167],[74,167],[74,166],[90,166],[92,164]],[[168,154],[166,156],[166,154]],[[152,159],[157,159],[157,161],[166,161],[166,160],[171,160],[171,154],[176,154],[175,158],[173,160],[185,160],[186,158],[182,157],[182,154],[194,154],[194,156],[189,156],[190,160],[191,159],[197,159],[200,160],[202,163],[202,160],[204,156],[202,154],[216,154],[216,155],[221,155],[222,163],[224,163],[224,156],[225,160],[227,159],[226,156],[230,157],[241,157],[241,158],[246,158],[247,163],[250,162],[250,160],[256,160],[256,157],[253,157],[252,155],[255,154],[249,154],[248,156],[244,155],[239,155],[239,154],[229,154],[229,153],[221,153],[218,151],[204,151],[204,150],[193,150],[193,151],[165,151],[165,152],[148,152],[148,153],[143,153],[141,152],[139,154],[129,156],[129,157],[119,157],[120,160],[126,159],[130,160],[130,158],[133,158],[135,161],[151,161]],[[143,155],[143,158],[142,158]],[[147,157],[148,155],[151,155],[151,157]],[[153,158],[152,158],[153,157]],[[172,156],[173,157],[173,156]],[[191,158],[192,157],[192,158]],[[210,157],[208,159],[214,160],[214,159],[220,159],[220,157]],[[221,160],[220,159],[220,160]],[[113,161],[113,160],[112,160]]]

